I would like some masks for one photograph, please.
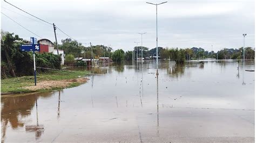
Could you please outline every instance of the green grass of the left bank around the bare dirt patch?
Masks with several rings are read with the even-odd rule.
[[[38,73],[37,74],[37,83],[45,82],[45,81],[65,81],[65,80],[73,80],[77,79],[78,77],[84,77],[85,75],[89,74],[89,71],[85,70],[75,70],[74,72],[68,71],[48,71],[46,73]],[[37,90],[30,90],[24,87],[33,86],[35,85],[34,76],[22,76],[22,77],[13,77],[13,78],[6,78],[1,81],[1,92],[32,92],[32,91],[42,91],[45,89],[37,89]],[[80,85],[80,82],[76,82],[73,80],[68,83],[66,86],[68,87],[76,87]],[[51,89],[57,89],[58,87],[51,87]],[[63,87],[59,87],[63,88]],[[49,90],[49,88],[48,88]]]

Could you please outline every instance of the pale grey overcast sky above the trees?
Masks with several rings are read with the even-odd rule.
[[[134,41],[143,46],[156,47],[156,6],[146,2],[163,1],[50,1],[6,0],[50,23],[55,23],[72,38],[92,45],[104,44],[113,49],[131,50]],[[1,1],[2,12],[40,37],[55,41],[53,27]],[[242,33],[247,33],[246,46],[255,47],[253,0],[171,0],[158,5],[158,46],[202,47],[211,51],[221,48],[239,48]],[[21,26],[1,16],[2,30],[14,32],[21,38],[33,35]],[[32,20],[35,19],[35,20]],[[67,36],[57,30],[57,40]],[[140,45],[140,44],[139,44]],[[87,46],[87,45],[85,45]]]

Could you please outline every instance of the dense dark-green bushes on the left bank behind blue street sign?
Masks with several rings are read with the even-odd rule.
[[[21,52],[19,47],[29,41],[19,38],[14,33],[1,31],[1,78],[33,75],[32,52]],[[35,54],[36,66],[60,69],[60,55],[52,53]],[[37,72],[47,71],[37,69]]]

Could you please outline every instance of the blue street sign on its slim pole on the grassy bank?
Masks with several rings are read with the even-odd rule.
[[[35,76],[35,86],[36,86],[36,58],[35,51],[40,51],[40,45],[36,44],[37,39],[30,37],[31,44],[21,45],[22,52],[33,52],[33,62],[34,62],[34,76]]]

